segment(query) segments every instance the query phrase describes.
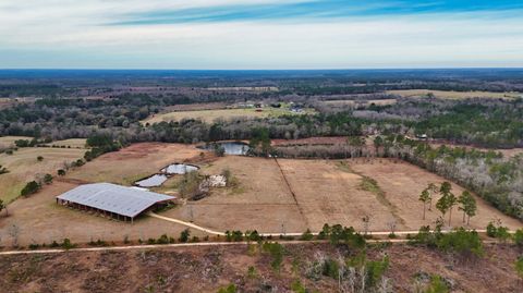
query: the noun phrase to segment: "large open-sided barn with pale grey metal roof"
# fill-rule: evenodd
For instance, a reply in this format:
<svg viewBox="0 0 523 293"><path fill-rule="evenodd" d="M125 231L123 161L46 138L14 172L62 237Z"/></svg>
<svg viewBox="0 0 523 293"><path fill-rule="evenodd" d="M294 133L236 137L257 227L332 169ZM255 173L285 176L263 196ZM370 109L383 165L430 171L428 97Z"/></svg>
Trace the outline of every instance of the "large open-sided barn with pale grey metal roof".
<svg viewBox="0 0 523 293"><path fill-rule="evenodd" d="M57 196L57 204L132 222L142 212L174 199L173 196L117 184L93 183Z"/></svg>

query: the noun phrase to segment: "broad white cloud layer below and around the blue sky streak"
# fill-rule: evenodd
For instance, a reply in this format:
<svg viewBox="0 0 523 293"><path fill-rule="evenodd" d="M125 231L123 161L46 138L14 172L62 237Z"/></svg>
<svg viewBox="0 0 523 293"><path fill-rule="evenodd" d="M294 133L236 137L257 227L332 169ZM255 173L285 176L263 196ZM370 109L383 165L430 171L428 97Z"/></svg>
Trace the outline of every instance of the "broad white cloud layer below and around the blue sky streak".
<svg viewBox="0 0 523 293"><path fill-rule="evenodd" d="M217 1L4 0L0 53L7 53L0 56L0 68L523 66L523 21L502 12L299 23L101 25L121 13L209 3Z"/></svg>

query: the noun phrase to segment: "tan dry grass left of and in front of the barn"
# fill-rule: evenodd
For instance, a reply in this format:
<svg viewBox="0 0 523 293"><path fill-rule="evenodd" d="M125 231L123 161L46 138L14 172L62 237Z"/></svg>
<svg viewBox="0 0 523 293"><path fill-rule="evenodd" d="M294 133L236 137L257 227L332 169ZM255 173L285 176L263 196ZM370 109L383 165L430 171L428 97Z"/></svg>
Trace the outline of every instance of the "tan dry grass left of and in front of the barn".
<svg viewBox="0 0 523 293"><path fill-rule="evenodd" d="M74 243L97 241L122 242L125 235L132 240L157 239L163 233L178 236L184 229L150 217L135 220L134 224L96 217L56 204L56 196L76 187L76 184L54 182L32 197L20 198L9 205L8 218L0 219L0 245L11 246L13 239L8 236L9 229L20 228L21 245L32 243L61 242L69 237Z"/></svg>

